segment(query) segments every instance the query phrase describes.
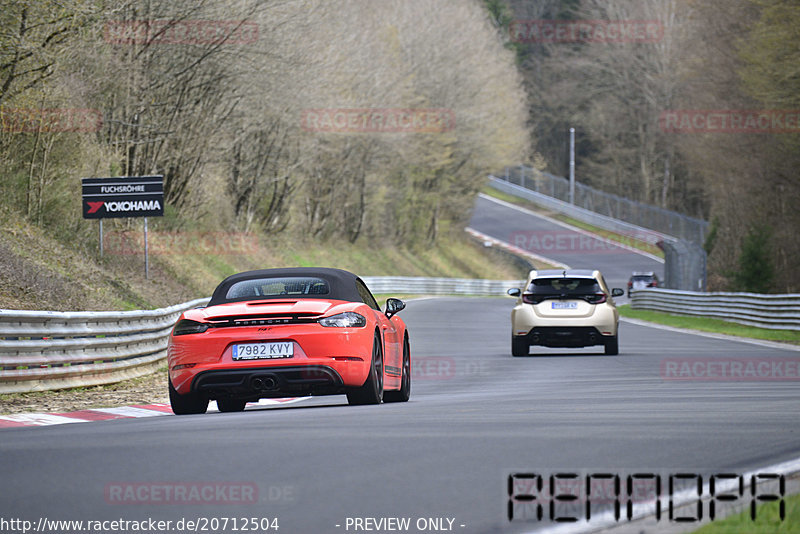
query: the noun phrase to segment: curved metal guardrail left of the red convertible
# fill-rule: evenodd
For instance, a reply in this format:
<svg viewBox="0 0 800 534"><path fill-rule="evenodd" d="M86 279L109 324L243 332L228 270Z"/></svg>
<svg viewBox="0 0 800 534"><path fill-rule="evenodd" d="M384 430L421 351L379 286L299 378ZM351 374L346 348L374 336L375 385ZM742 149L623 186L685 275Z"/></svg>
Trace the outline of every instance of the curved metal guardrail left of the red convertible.
<svg viewBox="0 0 800 534"><path fill-rule="evenodd" d="M181 312L0 310L0 393L94 386L143 376L164 364Z"/></svg>

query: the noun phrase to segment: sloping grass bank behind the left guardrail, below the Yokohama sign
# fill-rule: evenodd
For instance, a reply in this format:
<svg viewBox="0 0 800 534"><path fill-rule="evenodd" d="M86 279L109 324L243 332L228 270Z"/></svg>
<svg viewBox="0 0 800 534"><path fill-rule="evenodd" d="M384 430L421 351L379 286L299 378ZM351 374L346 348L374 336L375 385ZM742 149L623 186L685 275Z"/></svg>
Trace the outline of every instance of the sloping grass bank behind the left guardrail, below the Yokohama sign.
<svg viewBox="0 0 800 534"><path fill-rule="evenodd" d="M237 247L227 242L242 237L235 234L159 232L154 228L150 235L150 278L145 279L144 256L138 247L108 246L100 258L92 250L95 244L60 242L24 221L9 216L4 219L2 213L0 222L7 223L4 227L8 228L0 235L0 308L4 309L158 308L208 296L233 273L274 267L339 267L360 276L498 280L515 280L527 274L508 254L456 231L441 236L434 244L416 247L366 239L352 244L257 235L244 236L246 246ZM117 234L109 230L107 235Z"/></svg>

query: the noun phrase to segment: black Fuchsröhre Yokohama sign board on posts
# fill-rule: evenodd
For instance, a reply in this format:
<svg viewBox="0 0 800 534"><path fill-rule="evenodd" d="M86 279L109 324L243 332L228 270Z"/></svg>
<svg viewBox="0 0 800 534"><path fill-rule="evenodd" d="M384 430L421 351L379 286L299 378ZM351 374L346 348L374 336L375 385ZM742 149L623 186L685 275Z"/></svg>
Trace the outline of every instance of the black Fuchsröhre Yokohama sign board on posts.
<svg viewBox="0 0 800 534"><path fill-rule="evenodd" d="M162 217L163 176L84 178L83 218Z"/></svg>

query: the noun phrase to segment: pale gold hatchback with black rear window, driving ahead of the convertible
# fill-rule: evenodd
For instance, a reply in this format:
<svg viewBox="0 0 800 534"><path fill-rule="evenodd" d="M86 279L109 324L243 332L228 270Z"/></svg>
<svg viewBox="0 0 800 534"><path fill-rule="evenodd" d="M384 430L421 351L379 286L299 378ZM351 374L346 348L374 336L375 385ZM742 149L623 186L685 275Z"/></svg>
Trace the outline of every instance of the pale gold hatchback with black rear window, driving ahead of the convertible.
<svg viewBox="0 0 800 534"><path fill-rule="evenodd" d="M512 288L517 298L511 311L511 353L527 356L531 345L589 347L603 345L619 354L619 312L600 271L531 271L525 288Z"/></svg>

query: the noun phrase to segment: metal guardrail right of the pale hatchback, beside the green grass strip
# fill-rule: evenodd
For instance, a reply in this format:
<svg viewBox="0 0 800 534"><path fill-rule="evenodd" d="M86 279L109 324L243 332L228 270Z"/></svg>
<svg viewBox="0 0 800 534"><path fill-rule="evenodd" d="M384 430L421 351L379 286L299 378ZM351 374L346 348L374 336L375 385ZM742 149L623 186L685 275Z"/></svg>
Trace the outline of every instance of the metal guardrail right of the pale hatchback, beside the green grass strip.
<svg viewBox="0 0 800 534"><path fill-rule="evenodd" d="M800 330L800 294L640 289L631 293L631 307L636 310L711 317L774 330Z"/></svg>

